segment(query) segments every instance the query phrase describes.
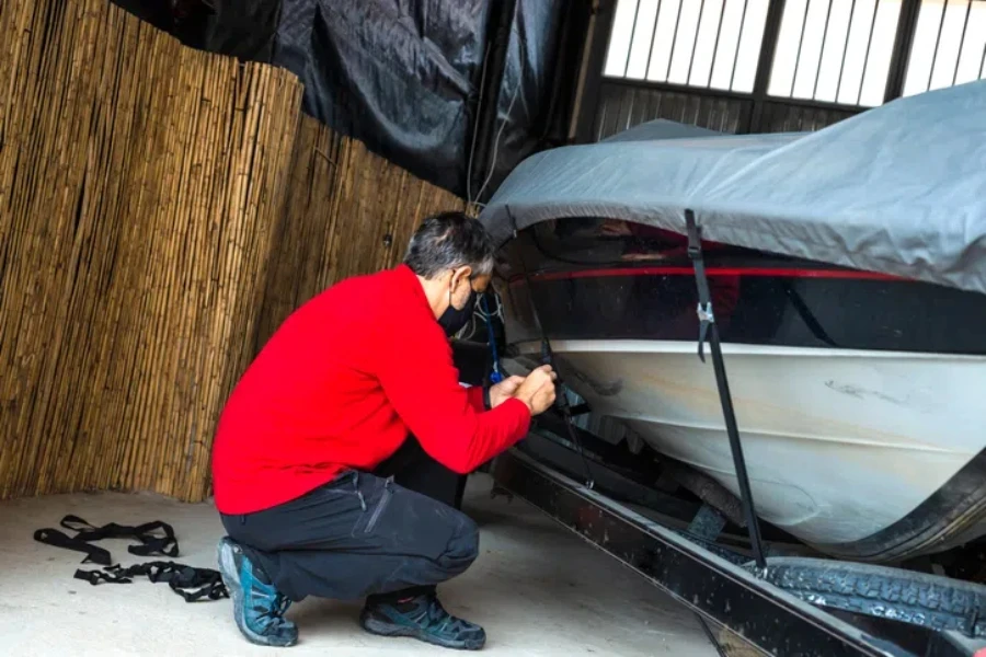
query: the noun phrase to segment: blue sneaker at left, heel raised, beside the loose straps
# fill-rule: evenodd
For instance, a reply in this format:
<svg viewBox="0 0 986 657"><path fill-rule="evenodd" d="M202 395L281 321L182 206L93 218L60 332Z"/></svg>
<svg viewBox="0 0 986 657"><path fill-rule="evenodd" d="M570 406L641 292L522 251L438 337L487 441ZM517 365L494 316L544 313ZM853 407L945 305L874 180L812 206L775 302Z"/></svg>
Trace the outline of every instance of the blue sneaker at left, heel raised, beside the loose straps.
<svg viewBox="0 0 986 657"><path fill-rule="evenodd" d="M291 601L228 537L219 541L218 557L219 573L233 601L237 627L246 641L261 646L295 645L298 627L284 618Z"/></svg>

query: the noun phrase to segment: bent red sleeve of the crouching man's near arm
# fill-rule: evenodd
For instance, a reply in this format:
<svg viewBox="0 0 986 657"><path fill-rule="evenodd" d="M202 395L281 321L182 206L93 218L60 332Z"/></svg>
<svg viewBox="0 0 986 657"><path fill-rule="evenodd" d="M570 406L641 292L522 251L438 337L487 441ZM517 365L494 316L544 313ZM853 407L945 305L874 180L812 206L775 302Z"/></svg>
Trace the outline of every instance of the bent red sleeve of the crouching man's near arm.
<svg viewBox="0 0 986 657"><path fill-rule="evenodd" d="M377 376L387 399L436 461L468 473L524 438L530 411L507 400L493 411L478 412L479 395L459 384L452 351L437 322L408 322L402 334L385 331L378 339Z"/></svg>

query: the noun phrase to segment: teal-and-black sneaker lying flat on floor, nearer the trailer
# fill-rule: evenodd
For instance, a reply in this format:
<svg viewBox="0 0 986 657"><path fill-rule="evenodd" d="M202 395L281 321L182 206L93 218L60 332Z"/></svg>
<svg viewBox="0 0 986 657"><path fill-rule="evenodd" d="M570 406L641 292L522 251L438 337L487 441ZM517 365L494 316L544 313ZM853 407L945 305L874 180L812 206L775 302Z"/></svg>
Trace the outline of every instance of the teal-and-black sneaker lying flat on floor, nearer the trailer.
<svg viewBox="0 0 986 657"><path fill-rule="evenodd" d="M406 602L368 602L359 622L370 634L411 636L445 648L479 650L486 643L482 627L445 611L435 593Z"/></svg>

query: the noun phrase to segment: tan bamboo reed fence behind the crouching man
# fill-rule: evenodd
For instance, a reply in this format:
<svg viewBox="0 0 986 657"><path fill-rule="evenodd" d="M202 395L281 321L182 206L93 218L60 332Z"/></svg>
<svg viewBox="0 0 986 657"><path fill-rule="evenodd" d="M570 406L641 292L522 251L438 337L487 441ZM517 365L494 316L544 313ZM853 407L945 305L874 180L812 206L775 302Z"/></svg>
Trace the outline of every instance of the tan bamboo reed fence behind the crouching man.
<svg viewBox="0 0 986 657"><path fill-rule="evenodd" d="M276 326L462 207L300 92L106 0L0 0L0 499L206 498L222 403Z"/></svg>

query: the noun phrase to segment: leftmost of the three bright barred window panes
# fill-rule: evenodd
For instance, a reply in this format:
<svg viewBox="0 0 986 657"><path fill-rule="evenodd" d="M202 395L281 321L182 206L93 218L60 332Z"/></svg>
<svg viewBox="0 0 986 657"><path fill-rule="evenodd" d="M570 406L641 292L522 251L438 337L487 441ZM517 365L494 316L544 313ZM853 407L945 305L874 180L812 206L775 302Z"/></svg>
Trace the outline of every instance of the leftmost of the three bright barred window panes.
<svg viewBox="0 0 986 657"><path fill-rule="evenodd" d="M604 74L749 93L769 0L618 0Z"/></svg>

